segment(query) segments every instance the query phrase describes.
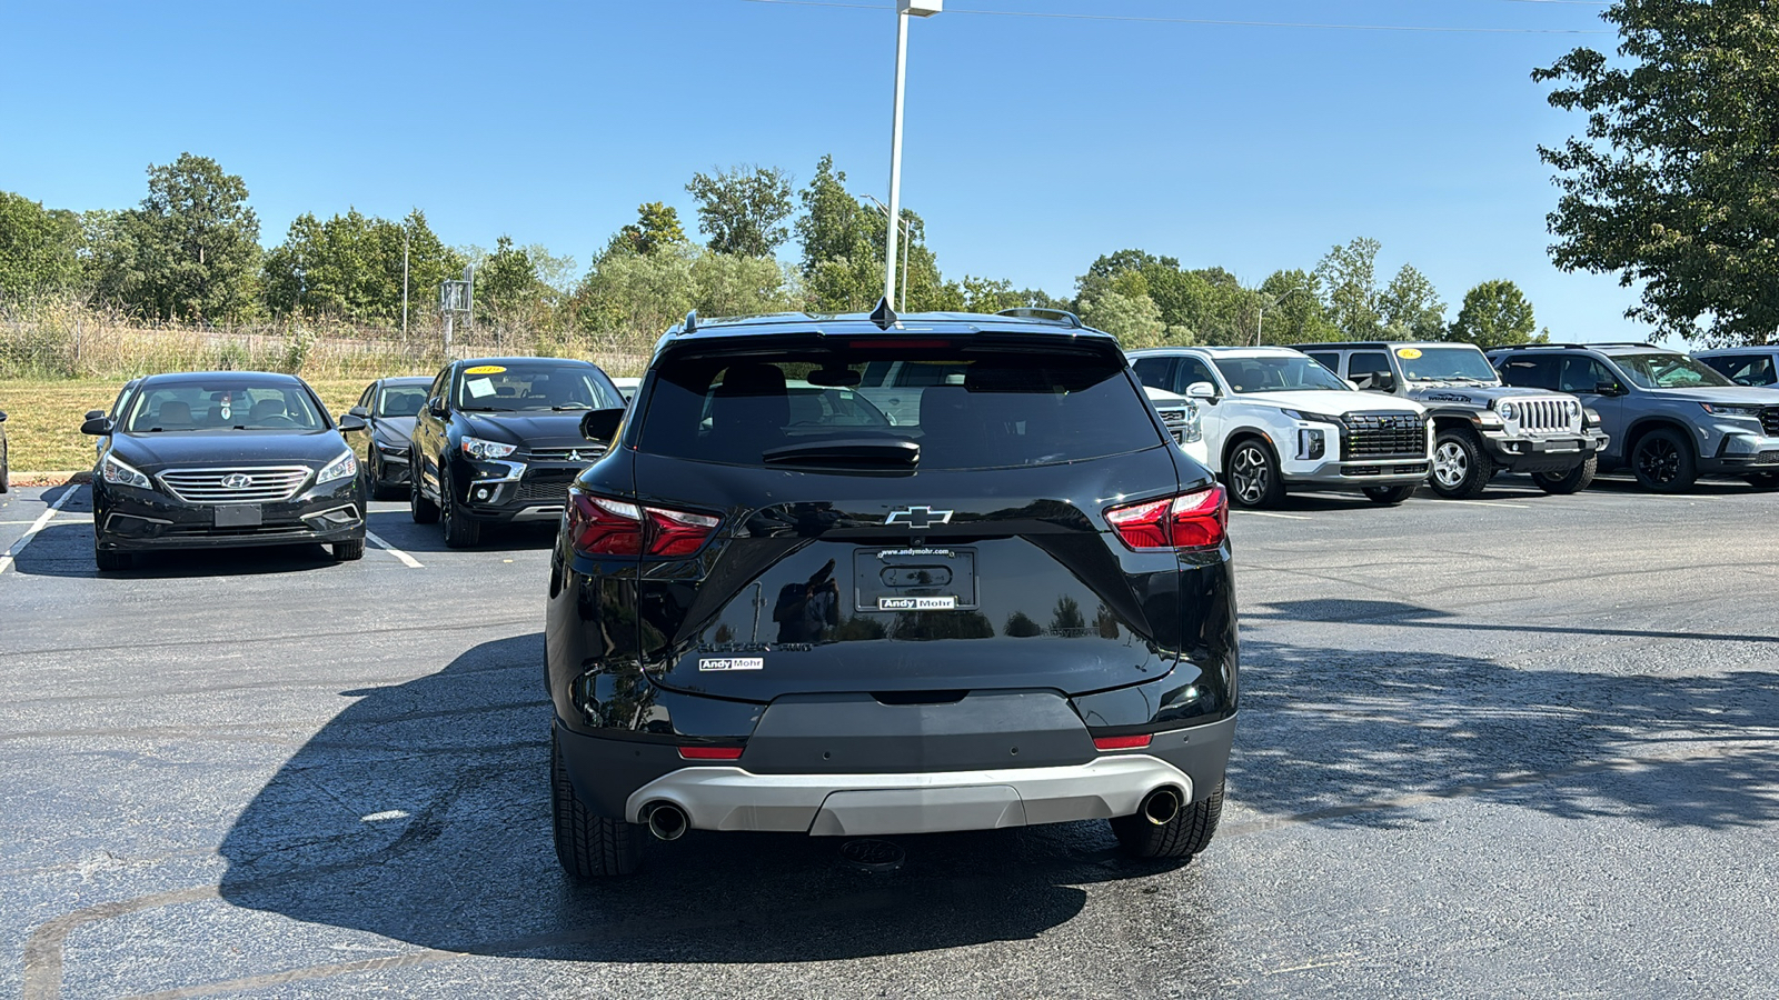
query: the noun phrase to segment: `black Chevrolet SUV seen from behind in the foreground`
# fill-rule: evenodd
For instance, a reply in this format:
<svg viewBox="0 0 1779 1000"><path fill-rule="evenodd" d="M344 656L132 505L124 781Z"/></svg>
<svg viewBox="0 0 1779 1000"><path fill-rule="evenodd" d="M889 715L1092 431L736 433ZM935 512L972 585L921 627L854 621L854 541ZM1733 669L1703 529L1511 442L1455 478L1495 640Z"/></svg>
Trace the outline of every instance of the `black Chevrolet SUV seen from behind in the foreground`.
<svg viewBox="0 0 1779 1000"><path fill-rule="evenodd" d="M856 386L945 372L895 422ZM621 422L621 423L619 423ZM575 877L644 831L1110 820L1190 858L1236 715L1228 502L1066 313L688 322L569 491L546 683Z"/></svg>

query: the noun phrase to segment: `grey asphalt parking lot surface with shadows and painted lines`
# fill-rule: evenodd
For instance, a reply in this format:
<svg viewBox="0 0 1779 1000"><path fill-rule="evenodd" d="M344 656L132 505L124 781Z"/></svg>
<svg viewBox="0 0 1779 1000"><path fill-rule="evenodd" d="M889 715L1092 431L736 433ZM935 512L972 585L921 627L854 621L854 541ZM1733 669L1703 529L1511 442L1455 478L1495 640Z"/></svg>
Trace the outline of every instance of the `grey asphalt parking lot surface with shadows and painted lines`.
<svg viewBox="0 0 1779 1000"><path fill-rule="evenodd" d="M548 530L454 552L377 504L363 562L98 578L87 511L0 496L5 993L1779 995L1779 496L1742 484L1238 512L1190 865L692 833L596 888L550 847Z"/></svg>

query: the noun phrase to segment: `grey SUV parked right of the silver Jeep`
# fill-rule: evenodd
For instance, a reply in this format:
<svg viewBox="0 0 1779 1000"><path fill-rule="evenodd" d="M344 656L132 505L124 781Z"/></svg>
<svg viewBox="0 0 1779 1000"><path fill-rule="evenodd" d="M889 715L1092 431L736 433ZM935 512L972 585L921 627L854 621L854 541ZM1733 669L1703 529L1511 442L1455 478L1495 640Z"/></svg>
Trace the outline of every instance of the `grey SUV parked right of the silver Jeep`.
<svg viewBox="0 0 1779 1000"><path fill-rule="evenodd" d="M1612 443L1603 470L1678 493L1699 475L1779 488L1779 391L1745 388L1651 343L1528 343L1489 352L1510 386L1574 393Z"/></svg>

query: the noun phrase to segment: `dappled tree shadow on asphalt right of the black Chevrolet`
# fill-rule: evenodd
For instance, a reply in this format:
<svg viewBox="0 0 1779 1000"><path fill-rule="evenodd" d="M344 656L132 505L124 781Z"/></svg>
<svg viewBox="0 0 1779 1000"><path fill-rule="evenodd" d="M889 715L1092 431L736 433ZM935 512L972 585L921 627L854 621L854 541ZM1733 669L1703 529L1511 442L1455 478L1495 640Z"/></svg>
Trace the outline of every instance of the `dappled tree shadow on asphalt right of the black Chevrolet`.
<svg viewBox="0 0 1779 1000"><path fill-rule="evenodd" d="M1247 617L1598 635L1628 639L1626 649L1779 644L1770 635L1475 625L1398 601L1281 601ZM1229 785L1274 817L1409 826L1425 797L1468 797L1663 827L1779 820L1775 673L1512 669L1453 653L1256 641L1244 646L1244 667Z"/></svg>

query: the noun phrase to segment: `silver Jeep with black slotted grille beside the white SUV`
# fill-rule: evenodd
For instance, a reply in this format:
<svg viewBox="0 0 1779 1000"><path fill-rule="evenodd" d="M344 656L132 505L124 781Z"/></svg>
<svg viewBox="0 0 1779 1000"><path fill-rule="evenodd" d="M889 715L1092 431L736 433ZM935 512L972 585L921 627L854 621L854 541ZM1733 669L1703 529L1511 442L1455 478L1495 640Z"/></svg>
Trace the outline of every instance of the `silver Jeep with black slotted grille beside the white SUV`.
<svg viewBox="0 0 1779 1000"><path fill-rule="evenodd" d="M1377 340L1297 349L1364 391L1427 407L1434 420L1429 486L1441 496L1480 496L1496 472L1532 473L1546 493L1576 493L1594 482L1606 447L1599 415L1567 393L1503 386L1473 343Z"/></svg>

